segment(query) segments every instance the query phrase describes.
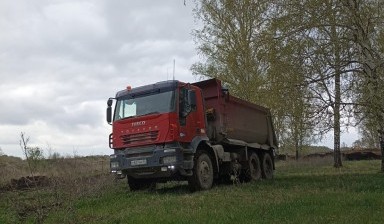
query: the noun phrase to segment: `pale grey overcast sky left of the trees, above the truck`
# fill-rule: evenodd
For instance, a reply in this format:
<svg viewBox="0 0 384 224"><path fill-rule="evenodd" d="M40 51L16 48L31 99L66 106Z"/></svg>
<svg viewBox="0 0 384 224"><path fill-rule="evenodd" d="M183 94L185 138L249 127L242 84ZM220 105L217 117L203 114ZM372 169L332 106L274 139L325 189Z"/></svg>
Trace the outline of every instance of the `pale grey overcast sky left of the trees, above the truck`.
<svg viewBox="0 0 384 224"><path fill-rule="evenodd" d="M171 79L173 60L176 79L198 81L186 3L1 0L2 151L22 156L25 132L45 153L111 154L105 109L116 91Z"/></svg>

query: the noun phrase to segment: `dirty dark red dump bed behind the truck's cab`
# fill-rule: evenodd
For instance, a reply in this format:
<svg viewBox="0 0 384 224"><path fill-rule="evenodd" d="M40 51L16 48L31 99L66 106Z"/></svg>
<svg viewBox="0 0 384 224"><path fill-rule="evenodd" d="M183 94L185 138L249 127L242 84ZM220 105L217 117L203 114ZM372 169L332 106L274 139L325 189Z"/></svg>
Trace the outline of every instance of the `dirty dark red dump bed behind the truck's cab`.
<svg viewBox="0 0 384 224"><path fill-rule="evenodd" d="M221 81L194 83L203 91L207 111L207 134L213 142L241 140L263 148L277 148L269 109L231 96Z"/></svg>

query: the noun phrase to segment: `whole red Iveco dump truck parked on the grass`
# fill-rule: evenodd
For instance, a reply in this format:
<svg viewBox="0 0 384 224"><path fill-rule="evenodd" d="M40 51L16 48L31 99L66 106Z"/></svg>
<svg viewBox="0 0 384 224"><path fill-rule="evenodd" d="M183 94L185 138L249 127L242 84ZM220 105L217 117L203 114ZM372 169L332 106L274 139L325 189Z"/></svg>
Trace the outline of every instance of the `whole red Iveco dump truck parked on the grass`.
<svg viewBox="0 0 384 224"><path fill-rule="evenodd" d="M169 180L188 180L196 191L216 180L273 178L270 111L231 96L220 80L128 86L107 105L111 172L127 177L131 190Z"/></svg>

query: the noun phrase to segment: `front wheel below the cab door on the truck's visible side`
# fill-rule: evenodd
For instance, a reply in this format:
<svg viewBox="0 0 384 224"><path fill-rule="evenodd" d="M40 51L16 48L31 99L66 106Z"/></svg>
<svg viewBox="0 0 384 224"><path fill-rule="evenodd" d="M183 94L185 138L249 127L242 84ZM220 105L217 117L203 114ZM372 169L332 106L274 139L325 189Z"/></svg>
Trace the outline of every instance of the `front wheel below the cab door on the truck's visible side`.
<svg viewBox="0 0 384 224"><path fill-rule="evenodd" d="M213 166L211 157L206 151L197 151L195 154L193 174L188 179L191 191L208 190L213 184Z"/></svg>

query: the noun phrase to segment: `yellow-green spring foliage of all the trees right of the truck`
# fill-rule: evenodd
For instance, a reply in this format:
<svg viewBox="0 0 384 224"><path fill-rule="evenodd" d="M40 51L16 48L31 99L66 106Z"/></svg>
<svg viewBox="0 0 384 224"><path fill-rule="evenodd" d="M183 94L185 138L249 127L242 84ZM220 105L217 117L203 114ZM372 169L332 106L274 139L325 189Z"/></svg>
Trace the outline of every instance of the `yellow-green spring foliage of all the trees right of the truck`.
<svg viewBox="0 0 384 224"><path fill-rule="evenodd" d="M341 129L353 115L370 144L372 130L384 130L382 8L382 0L197 1L205 60L192 71L271 108L282 145L299 150L333 130L341 166Z"/></svg>

